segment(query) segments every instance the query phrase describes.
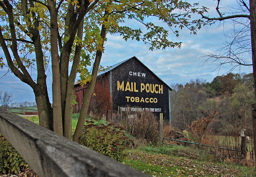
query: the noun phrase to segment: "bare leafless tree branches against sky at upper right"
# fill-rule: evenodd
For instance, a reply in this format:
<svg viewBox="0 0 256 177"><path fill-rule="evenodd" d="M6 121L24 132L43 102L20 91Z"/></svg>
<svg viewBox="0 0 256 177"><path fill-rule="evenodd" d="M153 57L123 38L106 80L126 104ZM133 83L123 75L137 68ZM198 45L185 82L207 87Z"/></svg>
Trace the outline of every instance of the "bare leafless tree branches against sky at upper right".
<svg viewBox="0 0 256 177"><path fill-rule="evenodd" d="M213 62L220 61L217 68L224 64L230 64L234 70L236 67L252 66L247 63L247 59L252 55L251 38L250 38L250 9L247 0L237 1L237 7L222 8L221 0L217 0L216 11L219 17L210 18L203 14L202 18L206 19L206 24L215 23L216 21L228 22L233 25L231 33L225 33L228 41L223 42L224 46L209 52L207 60L212 59ZM228 15L226 15L228 14ZM221 24L221 23L220 23Z"/></svg>

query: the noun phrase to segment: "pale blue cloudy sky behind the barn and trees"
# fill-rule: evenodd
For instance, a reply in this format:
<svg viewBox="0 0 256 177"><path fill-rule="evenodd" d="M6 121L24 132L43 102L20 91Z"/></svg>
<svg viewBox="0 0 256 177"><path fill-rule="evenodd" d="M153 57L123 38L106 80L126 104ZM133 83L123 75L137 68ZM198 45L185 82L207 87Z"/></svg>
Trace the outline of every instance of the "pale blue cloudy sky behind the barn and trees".
<svg viewBox="0 0 256 177"><path fill-rule="evenodd" d="M209 16L216 17L215 3L216 1L199 1L201 5L210 8ZM207 3L207 4L204 4ZM231 6L236 4L234 0L226 0L223 2L223 6ZM159 23L157 20L152 20L155 23ZM128 23L132 23L129 22ZM140 28L141 24L135 28ZM143 27L142 27L143 28ZM232 29L231 24L219 25L215 24L202 28L197 32L197 35L190 35L188 30L182 30L180 36L177 38L170 33L170 40L181 41L182 47L179 48L166 48L165 50L153 50L150 51L149 45L143 42L137 41L124 41L119 35L107 35L108 41L105 44L105 51L102 55L101 65L111 66L136 56L142 63L144 63L152 72L154 72L160 79L162 79L167 85L171 86L176 83L186 84L191 79L204 79L207 82L211 82L214 77L226 74L232 66L223 65L219 69L214 70L219 62L211 63L211 61L205 62L208 52L219 49L223 46L223 42L230 40L225 37L224 34L229 34ZM4 53L0 48L0 57L4 58ZM252 63L251 57L246 58L247 63ZM51 67L47 70L47 83L48 94L50 100L52 100L51 91ZM35 96L32 89L22 83L13 73L7 73L6 67L0 69L0 90L7 91L13 95L13 102L35 101ZM233 70L234 73L250 73L252 67L242 66ZM7 74L6 74L7 73ZM31 70L33 78L36 78L35 71ZM77 77L78 78L78 77Z"/></svg>

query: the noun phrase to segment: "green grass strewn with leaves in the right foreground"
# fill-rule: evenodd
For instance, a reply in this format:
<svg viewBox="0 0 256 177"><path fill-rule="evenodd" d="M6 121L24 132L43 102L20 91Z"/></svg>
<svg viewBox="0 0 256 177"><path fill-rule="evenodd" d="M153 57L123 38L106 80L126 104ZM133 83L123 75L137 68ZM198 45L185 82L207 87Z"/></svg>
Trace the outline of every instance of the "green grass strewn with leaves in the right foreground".
<svg viewBox="0 0 256 177"><path fill-rule="evenodd" d="M123 163L152 176L256 176L254 167L212 162L207 157L187 147L145 146L128 150Z"/></svg>

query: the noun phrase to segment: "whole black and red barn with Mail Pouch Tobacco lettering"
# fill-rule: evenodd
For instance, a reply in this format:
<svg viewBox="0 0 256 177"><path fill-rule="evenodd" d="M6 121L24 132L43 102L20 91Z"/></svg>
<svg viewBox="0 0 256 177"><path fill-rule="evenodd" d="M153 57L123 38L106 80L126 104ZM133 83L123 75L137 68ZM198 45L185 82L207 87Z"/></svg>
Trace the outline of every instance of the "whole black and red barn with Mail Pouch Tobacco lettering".
<svg viewBox="0 0 256 177"><path fill-rule="evenodd" d="M74 85L77 104L74 113L81 110L87 85ZM170 91L172 89L137 57L131 57L106 71L99 72L88 112L108 114L117 111L151 111L156 116L163 113L171 120Z"/></svg>

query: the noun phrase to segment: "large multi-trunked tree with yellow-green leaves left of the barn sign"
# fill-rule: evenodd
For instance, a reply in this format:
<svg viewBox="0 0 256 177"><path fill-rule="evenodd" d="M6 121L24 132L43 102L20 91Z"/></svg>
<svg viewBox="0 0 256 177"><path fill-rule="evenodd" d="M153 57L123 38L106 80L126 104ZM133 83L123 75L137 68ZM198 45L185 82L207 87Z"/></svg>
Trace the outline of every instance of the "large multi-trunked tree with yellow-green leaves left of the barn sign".
<svg viewBox="0 0 256 177"><path fill-rule="evenodd" d="M8 65L15 76L32 87L39 124L67 138L71 135L73 88L79 72L82 85L90 84L83 97L73 138L78 142L106 34L120 34L125 41L143 41L150 50L180 48L181 42L168 40L167 29L148 21L164 22L176 36L178 29L183 28L195 34L201 24L193 26L188 20L190 14L196 12L196 5L178 0L2 0L0 44L7 64L1 58L0 66ZM126 25L127 20L139 22L144 28L133 29ZM53 108L46 85L49 64L52 66ZM88 65L93 65L91 73L86 68ZM30 76L29 68L37 70L37 78Z"/></svg>

